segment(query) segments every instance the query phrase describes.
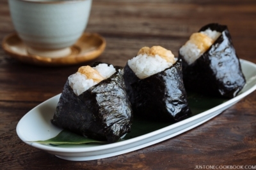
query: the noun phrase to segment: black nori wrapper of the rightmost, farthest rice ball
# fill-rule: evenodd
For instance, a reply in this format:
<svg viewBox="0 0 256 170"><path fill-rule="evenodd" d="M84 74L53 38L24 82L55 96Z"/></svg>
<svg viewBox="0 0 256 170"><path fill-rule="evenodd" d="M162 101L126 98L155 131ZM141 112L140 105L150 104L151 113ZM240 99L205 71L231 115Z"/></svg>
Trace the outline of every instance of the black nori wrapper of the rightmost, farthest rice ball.
<svg viewBox="0 0 256 170"><path fill-rule="evenodd" d="M188 65L182 60L185 88L207 96L235 97L243 89L246 80L230 33L226 25L208 24L200 31L206 29L221 32L221 35L192 64ZM184 59L180 53L179 57Z"/></svg>

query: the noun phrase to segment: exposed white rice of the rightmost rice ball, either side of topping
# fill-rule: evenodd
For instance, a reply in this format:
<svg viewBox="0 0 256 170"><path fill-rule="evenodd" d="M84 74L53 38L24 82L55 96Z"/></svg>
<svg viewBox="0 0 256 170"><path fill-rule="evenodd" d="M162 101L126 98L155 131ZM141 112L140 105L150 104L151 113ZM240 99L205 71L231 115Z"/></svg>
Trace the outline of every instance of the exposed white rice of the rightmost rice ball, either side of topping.
<svg viewBox="0 0 256 170"><path fill-rule="evenodd" d="M205 31L201 31L201 33L209 36L213 41L216 41L220 36L221 32L212 31L211 29L206 29ZM180 54L184 57L188 64L192 64L198 59L204 52L197 48L194 43L186 43L180 48Z"/></svg>

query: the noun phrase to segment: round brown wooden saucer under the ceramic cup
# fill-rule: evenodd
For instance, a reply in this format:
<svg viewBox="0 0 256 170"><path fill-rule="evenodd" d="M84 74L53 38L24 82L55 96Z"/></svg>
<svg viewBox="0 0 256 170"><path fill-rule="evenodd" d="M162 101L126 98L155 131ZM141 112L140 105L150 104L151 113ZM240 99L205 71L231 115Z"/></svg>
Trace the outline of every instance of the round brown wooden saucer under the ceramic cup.
<svg viewBox="0 0 256 170"><path fill-rule="evenodd" d="M70 55L55 59L28 53L27 46L22 42L17 33L6 36L3 39L2 46L5 52L20 62L39 66L68 66L99 57L106 47L106 40L97 33L84 32L76 44L70 47L72 50Z"/></svg>

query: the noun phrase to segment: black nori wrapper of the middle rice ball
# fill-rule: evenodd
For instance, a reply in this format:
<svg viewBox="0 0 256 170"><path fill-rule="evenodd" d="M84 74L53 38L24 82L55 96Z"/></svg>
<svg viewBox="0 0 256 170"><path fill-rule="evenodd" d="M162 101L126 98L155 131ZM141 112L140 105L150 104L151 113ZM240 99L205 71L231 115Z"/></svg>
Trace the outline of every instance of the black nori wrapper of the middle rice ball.
<svg viewBox="0 0 256 170"><path fill-rule="evenodd" d="M182 81L181 60L157 74L140 79L128 64L125 86L135 115L145 120L177 122L190 113Z"/></svg>

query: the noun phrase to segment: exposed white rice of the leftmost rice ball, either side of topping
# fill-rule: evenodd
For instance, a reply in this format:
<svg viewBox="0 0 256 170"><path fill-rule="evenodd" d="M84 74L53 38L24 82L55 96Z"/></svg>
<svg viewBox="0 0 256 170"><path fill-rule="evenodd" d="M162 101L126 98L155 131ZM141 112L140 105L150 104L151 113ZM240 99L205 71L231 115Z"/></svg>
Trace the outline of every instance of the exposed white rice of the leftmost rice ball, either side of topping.
<svg viewBox="0 0 256 170"><path fill-rule="evenodd" d="M108 66L108 64L99 64L93 68L96 69L100 76L102 76L104 79L109 78L116 72L116 69L113 67L113 65ZM88 79L85 74L81 74L79 72L68 76L68 82L77 96L88 90L93 85L97 84L97 82L93 81L92 79Z"/></svg>

